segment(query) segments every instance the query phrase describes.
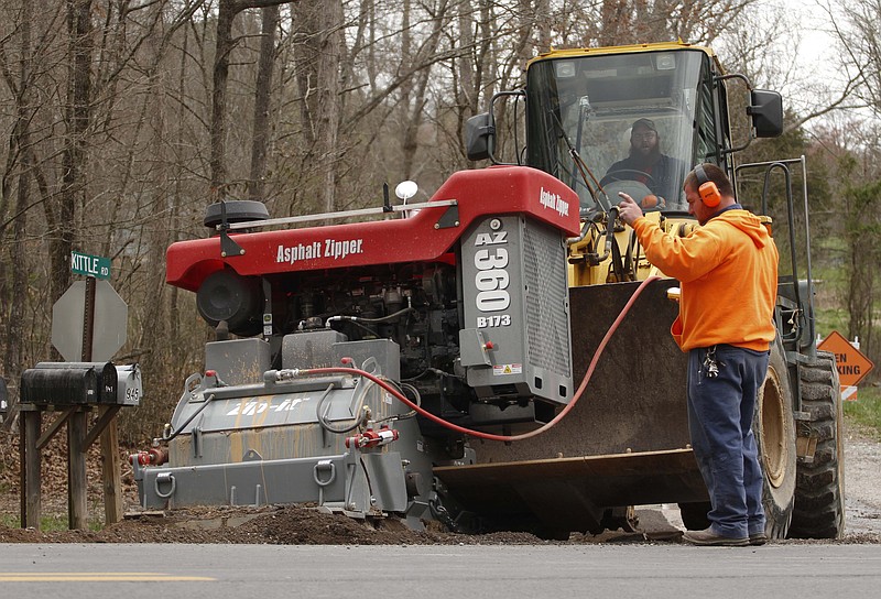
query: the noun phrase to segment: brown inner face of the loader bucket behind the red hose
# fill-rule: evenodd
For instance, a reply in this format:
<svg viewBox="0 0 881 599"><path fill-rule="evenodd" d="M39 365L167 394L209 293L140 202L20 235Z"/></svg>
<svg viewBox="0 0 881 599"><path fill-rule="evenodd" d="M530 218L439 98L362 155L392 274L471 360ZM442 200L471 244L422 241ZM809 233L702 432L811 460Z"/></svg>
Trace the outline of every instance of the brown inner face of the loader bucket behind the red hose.
<svg viewBox="0 0 881 599"><path fill-rule="evenodd" d="M657 451L685 447L686 355L670 335L672 280L650 283L609 339L578 403L547 433L510 445L471 440L480 462ZM569 290L574 384L639 283Z"/></svg>

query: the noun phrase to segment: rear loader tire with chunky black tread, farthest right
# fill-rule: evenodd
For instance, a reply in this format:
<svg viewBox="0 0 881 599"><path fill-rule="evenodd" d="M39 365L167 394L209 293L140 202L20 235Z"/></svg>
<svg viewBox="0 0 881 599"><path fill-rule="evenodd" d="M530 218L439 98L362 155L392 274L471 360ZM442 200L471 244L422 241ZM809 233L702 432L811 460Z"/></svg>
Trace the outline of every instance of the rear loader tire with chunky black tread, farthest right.
<svg viewBox="0 0 881 599"><path fill-rule="evenodd" d="M841 538L845 534L844 409L835 356L817 351L817 359L800 372L802 435L816 438L813 460L800 460L795 483L795 510L790 536Z"/></svg>

